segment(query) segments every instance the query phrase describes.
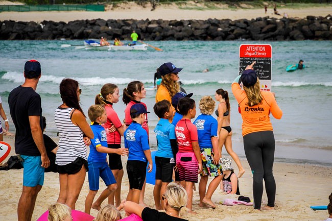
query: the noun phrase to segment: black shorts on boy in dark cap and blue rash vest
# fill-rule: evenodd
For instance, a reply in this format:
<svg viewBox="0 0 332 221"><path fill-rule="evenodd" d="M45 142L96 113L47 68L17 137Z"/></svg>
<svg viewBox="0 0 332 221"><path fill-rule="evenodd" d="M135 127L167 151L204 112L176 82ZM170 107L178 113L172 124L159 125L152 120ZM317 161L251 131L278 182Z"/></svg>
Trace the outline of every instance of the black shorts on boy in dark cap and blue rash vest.
<svg viewBox="0 0 332 221"><path fill-rule="evenodd" d="M148 162L139 160L127 161L127 175L130 189L141 190L144 185Z"/></svg>

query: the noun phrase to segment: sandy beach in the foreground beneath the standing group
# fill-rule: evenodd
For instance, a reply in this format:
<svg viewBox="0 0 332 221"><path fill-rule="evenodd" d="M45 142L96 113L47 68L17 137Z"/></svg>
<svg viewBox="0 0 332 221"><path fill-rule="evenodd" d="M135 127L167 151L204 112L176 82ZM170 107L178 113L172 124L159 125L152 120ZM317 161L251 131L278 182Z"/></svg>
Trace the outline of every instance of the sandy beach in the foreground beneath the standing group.
<svg viewBox="0 0 332 221"><path fill-rule="evenodd" d="M14 137L5 136L5 141L14 146ZM12 150L10 155L15 155ZM4 161L6 162L7 159ZM252 200L252 176L248 162L242 159L246 173L239 180L240 192ZM126 158L123 158L125 166ZM233 163L234 165L234 163ZM126 168L126 167L124 167ZM2 207L0 208L1 220L17 219L16 209L22 188L22 169L1 170L0 186ZM235 169L235 173L237 170ZM331 193L332 169L317 165L275 163L274 177L277 184L276 207L274 211L256 211L252 206L225 206L220 204L224 199L237 200L238 195L224 195L216 190L212 200L217 204L217 209L200 208L198 191L194 191L193 208L198 215L188 214L186 218L194 220L324 220L328 217L327 210L314 211L312 205L327 205L328 195ZM209 179L210 181L211 179ZM103 181L100 182L104 188ZM198 184L196 184L198 188ZM86 179L76 203L77 210L84 210L85 197L88 193L88 179ZM122 184L122 198L125 199L128 191L128 179L125 174ZM32 220L36 220L50 204L55 203L59 193L59 176L55 173L46 173L44 186L41 189ZM98 193L100 194L100 192ZM153 185L147 184L145 203L154 208ZM266 194L263 194L263 205L267 203ZM104 202L106 204L106 202ZM91 215L96 216L97 211L91 210ZM124 215L124 212L122 211Z"/></svg>

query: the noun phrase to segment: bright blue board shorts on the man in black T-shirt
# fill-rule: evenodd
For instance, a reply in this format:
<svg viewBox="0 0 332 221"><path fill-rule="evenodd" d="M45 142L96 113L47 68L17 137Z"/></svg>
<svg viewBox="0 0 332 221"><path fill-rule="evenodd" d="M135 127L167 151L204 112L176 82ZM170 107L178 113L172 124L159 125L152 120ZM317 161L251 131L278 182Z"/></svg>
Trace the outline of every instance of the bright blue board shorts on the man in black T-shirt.
<svg viewBox="0 0 332 221"><path fill-rule="evenodd" d="M19 155L23 165L23 186L35 187L44 184L45 168L41 167L40 156Z"/></svg>

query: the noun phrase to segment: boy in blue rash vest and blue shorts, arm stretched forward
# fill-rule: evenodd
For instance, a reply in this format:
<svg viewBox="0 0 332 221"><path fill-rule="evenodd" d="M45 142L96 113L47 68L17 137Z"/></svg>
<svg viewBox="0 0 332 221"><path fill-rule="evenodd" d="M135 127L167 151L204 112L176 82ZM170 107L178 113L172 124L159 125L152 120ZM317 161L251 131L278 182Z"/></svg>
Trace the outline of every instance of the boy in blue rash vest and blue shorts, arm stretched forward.
<svg viewBox="0 0 332 221"><path fill-rule="evenodd" d="M128 150L125 148L110 149L107 148L106 131L101 126L107 120L107 114L103 105L92 105L88 109L88 116L91 120L91 129L93 132L93 139L91 139L90 153L88 157L88 178L89 178L89 193L85 199L84 212L90 214L92 209L100 210L102 202L117 188L116 180L112 174L111 169L107 164L107 154L118 154L126 156ZM100 194L96 202L93 202L99 190L99 177L101 177L106 184L106 189Z"/></svg>

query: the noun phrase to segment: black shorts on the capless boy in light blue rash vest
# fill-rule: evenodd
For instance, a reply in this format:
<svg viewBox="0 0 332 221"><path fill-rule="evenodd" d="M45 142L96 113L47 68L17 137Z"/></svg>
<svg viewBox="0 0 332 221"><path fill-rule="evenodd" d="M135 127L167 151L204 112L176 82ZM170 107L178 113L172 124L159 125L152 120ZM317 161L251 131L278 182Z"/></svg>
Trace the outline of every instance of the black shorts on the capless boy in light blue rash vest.
<svg viewBox="0 0 332 221"><path fill-rule="evenodd" d="M171 159L173 162L171 163ZM156 180L164 183L172 182L173 168L175 166L174 158L155 157L156 162Z"/></svg>

